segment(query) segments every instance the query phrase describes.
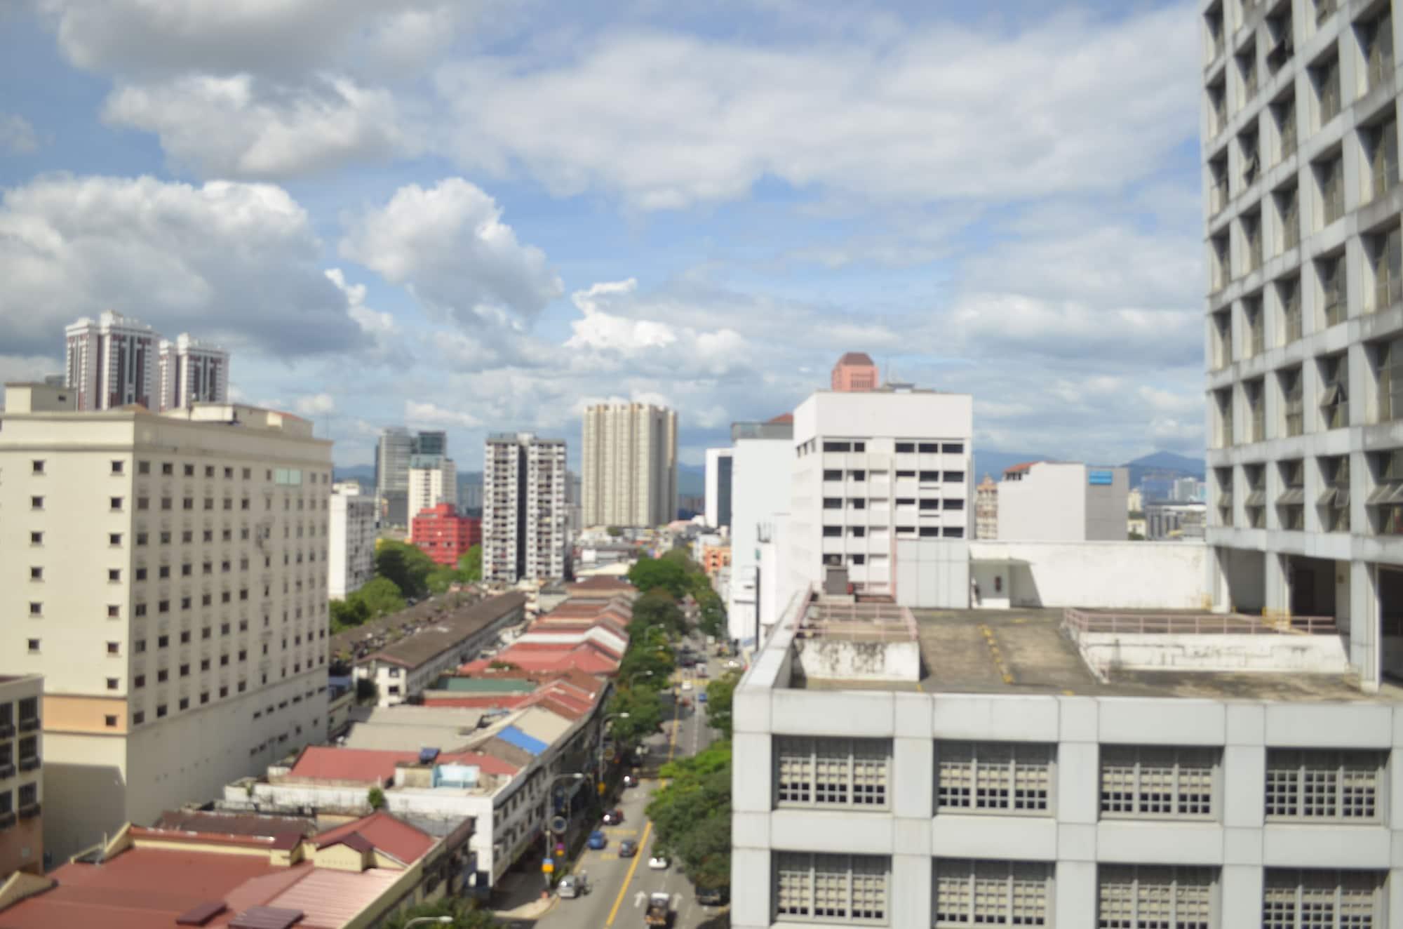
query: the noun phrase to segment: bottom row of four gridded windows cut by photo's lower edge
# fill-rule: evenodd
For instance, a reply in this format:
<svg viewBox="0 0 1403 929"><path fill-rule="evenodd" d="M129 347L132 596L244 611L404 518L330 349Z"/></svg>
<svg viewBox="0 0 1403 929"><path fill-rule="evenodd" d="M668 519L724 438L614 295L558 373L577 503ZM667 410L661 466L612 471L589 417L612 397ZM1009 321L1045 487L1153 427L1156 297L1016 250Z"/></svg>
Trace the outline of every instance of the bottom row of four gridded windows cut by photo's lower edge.
<svg viewBox="0 0 1403 929"><path fill-rule="evenodd" d="M780 921L884 925L891 859L880 855L772 853L772 908ZM1267 869L1261 929L1371 929L1383 925L1386 873ZM1101 864L1097 929L1216 929L1216 867ZM1051 926L1049 862L936 859L930 925ZM1087 923L1090 925L1090 923Z"/></svg>

